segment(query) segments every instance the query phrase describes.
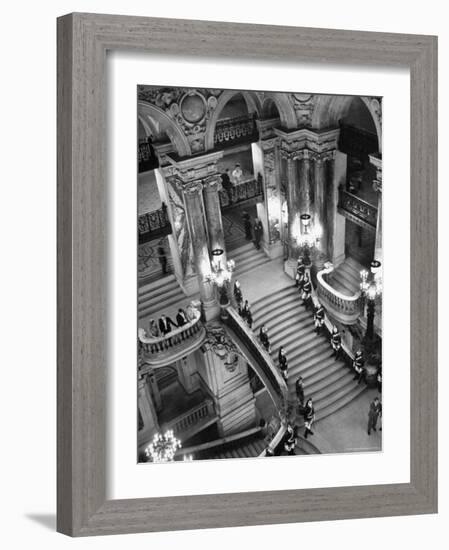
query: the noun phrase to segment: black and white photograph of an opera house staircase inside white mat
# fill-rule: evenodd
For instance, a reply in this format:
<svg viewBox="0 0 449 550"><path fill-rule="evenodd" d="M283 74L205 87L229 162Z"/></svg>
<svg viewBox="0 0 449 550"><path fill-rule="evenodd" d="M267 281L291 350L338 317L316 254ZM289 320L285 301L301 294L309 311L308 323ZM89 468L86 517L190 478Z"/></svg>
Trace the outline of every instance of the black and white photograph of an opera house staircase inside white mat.
<svg viewBox="0 0 449 550"><path fill-rule="evenodd" d="M382 450L382 98L140 85L138 459Z"/></svg>

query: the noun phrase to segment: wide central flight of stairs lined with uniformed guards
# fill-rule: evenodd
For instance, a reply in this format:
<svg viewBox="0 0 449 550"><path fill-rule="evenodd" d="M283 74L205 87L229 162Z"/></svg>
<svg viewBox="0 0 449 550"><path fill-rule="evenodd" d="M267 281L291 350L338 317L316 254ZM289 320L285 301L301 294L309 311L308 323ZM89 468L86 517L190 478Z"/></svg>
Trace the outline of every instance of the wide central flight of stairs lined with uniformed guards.
<svg viewBox="0 0 449 550"><path fill-rule="evenodd" d="M335 361L329 341L314 332L313 316L307 311L293 284L252 304L254 331L262 323L268 330L272 359L278 364L282 345L288 358L289 402L296 404L295 382L304 379L306 399L312 397L316 419L334 413L355 399L364 389L342 361Z"/></svg>

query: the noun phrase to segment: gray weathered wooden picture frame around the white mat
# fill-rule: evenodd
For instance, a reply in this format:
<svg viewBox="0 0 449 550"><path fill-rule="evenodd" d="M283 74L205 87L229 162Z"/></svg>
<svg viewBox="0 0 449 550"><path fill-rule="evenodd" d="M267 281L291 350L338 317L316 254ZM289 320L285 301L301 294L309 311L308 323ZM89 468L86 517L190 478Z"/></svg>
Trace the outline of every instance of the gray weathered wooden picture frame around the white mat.
<svg viewBox="0 0 449 550"><path fill-rule="evenodd" d="M410 483L106 500L106 52L411 71ZM58 506L72 536L437 511L437 38L74 13L58 19Z"/></svg>

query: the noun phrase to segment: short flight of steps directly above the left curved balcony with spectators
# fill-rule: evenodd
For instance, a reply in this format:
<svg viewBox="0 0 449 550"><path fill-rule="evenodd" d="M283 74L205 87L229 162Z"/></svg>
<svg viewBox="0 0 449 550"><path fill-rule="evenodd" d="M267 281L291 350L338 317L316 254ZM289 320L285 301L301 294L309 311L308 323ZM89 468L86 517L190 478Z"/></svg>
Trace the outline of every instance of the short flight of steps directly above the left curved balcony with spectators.
<svg viewBox="0 0 449 550"><path fill-rule="evenodd" d="M167 308L185 300L185 298L185 294L173 275L167 275L163 279L148 283L139 288L139 319L151 317L156 313L164 313Z"/></svg>

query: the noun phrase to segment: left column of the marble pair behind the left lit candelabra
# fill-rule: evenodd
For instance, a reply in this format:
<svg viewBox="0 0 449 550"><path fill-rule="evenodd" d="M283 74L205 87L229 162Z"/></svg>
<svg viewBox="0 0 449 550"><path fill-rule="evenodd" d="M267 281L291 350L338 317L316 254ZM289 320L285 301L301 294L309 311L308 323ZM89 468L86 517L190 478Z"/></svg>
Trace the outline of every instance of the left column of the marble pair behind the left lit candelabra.
<svg viewBox="0 0 449 550"><path fill-rule="evenodd" d="M210 274L210 258L207 246L207 233L203 214L202 189L200 181L183 185L187 222L193 248L195 271L198 277L200 299L203 303L206 320L218 317L220 308L215 300L214 288L204 278Z"/></svg>

